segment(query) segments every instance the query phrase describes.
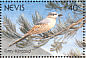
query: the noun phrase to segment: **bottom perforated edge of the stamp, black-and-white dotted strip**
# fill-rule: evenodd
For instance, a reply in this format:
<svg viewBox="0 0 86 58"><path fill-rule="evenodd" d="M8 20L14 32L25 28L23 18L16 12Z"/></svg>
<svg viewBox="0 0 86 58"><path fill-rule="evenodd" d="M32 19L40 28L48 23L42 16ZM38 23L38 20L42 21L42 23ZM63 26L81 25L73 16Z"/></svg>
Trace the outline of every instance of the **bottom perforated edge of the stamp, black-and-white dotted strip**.
<svg viewBox="0 0 86 58"><path fill-rule="evenodd" d="M85 58L85 56L1 56L1 58Z"/></svg>

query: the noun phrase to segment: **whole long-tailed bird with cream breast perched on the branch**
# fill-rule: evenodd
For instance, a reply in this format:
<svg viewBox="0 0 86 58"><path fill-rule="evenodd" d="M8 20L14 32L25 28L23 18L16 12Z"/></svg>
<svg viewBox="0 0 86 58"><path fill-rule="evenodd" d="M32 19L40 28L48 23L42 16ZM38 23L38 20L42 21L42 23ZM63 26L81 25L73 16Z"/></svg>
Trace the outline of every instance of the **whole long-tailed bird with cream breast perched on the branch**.
<svg viewBox="0 0 86 58"><path fill-rule="evenodd" d="M10 44L9 47L25 39L30 35L48 32L50 29L52 29L55 26L56 18L58 16L62 16L62 14L57 14L56 12L49 12L48 16L45 19L41 20L36 25L34 25L26 34L24 34L22 38Z"/></svg>

